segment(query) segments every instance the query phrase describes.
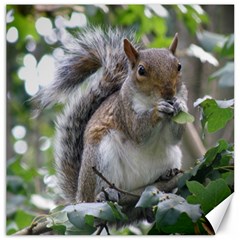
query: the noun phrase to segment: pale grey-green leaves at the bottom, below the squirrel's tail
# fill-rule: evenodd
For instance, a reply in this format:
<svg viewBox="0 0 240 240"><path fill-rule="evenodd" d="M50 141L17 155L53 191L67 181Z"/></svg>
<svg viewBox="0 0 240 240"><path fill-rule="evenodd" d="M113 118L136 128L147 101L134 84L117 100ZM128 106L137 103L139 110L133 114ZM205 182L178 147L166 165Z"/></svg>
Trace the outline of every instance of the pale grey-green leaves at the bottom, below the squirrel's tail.
<svg viewBox="0 0 240 240"><path fill-rule="evenodd" d="M124 222L126 219L116 203L79 203L53 210L48 216L47 226L57 234L90 235L101 223Z"/></svg>

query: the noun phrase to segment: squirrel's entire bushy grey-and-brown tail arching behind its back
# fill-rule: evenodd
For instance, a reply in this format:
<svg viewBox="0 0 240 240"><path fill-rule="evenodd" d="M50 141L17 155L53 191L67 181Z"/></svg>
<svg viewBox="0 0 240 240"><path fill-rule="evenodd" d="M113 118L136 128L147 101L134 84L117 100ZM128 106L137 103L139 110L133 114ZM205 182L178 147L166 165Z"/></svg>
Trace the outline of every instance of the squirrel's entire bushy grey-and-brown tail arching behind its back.
<svg viewBox="0 0 240 240"><path fill-rule="evenodd" d="M87 28L65 47L55 80L34 97L39 110L66 103L57 120L55 160L58 184L69 202L75 201L83 135L92 114L119 90L128 73L123 39L133 37L118 29Z"/></svg>

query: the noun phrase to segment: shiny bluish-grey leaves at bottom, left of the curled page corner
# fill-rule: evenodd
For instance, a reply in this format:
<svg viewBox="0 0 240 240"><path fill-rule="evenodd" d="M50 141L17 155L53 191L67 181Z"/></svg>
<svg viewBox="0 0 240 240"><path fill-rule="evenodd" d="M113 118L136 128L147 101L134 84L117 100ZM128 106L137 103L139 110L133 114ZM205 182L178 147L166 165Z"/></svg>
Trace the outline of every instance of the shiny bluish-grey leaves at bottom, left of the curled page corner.
<svg viewBox="0 0 240 240"><path fill-rule="evenodd" d="M200 205L189 204L176 194L163 193L157 188L147 187L136 207L149 208L153 206L155 210L154 227L161 234L191 234L194 232L193 223L196 223L202 216Z"/></svg>

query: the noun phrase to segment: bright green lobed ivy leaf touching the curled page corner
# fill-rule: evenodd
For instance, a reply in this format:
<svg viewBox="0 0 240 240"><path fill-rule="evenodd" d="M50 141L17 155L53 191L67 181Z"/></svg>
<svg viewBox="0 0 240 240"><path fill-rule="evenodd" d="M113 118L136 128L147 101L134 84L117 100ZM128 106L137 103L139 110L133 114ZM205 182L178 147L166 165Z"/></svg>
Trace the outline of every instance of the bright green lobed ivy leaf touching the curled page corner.
<svg viewBox="0 0 240 240"><path fill-rule="evenodd" d="M187 201L192 204L200 204L205 214L209 213L231 194L223 179L211 181L206 187L197 181L190 181L187 182L187 187L192 193L187 197Z"/></svg>

